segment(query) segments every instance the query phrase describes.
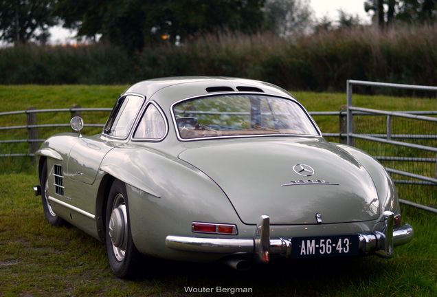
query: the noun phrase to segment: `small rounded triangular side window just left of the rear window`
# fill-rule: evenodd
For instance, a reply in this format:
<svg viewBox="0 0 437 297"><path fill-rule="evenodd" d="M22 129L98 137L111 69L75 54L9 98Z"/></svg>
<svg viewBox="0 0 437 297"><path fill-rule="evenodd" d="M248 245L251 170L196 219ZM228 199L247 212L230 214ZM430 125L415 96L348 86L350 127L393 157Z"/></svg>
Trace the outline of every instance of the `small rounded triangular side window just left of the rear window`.
<svg viewBox="0 0 437 297"><path fill-rule="evenodd" d="M148 104L133 137L148 140L160 140L165 135L166 120L164 120L161 112L159 112L157 107L155 107L155 104Z"/></svg>

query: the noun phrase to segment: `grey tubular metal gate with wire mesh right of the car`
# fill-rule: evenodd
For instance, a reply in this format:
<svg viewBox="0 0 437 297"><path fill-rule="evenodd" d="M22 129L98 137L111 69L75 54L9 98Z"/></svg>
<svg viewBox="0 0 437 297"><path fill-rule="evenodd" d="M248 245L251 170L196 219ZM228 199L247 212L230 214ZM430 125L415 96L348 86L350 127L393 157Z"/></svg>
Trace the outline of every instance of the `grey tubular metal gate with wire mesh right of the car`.
<svg viewBox="0 0 437 297"><path fill-rule="evenodd" d="M392 175L396 184L409 185L408 191L410 192L413 192L413 186L416 186L414 191L425 193L425 195L428 193L431 196L435 195L437 187L437 118L435 115L437 111L383 111L359 107L353 104L352 85L421 91L437 91L437 87L361 80L348 80L346 85L346 143L363 148L378 159ZM368 118L373 120L369 121ZM372 124L366 124L366 120ZM385 130L383 133L378 123L379 126L383 124L382 129ZM396 133L396 130L401 132ZM344 133L341 136L344 136ZM424 187L427 188L424 189ZM402 186L398 188L401 188L399 192L402 196L403 188ZM437 213L437 208L421 203L403 199L401 202ZM436 201L432 202L436 204Z"/></svg>

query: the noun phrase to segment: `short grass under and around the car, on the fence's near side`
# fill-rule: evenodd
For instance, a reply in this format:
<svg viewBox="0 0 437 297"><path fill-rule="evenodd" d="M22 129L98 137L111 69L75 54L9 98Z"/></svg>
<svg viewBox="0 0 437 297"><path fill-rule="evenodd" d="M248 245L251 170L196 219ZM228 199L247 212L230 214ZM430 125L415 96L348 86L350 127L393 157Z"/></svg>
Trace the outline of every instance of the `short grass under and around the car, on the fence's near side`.
<svg viewBox="0 0 437 297"><path fill-rule="evenodd" d="M35 175L0 175L0 296L179 296L184 286L251 287L249 296L436 296L434 214L403 208L411 243L393 259L292 261L237 272L219 263L144 261L133 281L113 276L104 244L74 227L54 228L32 195Z"/></svg>

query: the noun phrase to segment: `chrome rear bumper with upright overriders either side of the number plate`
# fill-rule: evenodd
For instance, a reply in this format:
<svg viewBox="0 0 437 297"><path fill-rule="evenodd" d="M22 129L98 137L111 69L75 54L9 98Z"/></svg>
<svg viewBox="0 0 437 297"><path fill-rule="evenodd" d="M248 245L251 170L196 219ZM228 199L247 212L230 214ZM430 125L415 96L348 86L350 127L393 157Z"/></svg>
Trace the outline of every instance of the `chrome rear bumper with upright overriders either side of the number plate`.
<svg viewBox="0 0 437 297"><path fill-rule="evenodd" d="M256 259L262 263L269 263L271 254L278 254L285 257L291 255L293 246L291 238L270 238L270 219L262 215L256 226L254 238L251 239L218 239L201 238L191 236L166 237L166 245L174 250L187 252L207 252L216 254L254 254ZM372 233L359 233L359 254L377 254L383 258L393 256L393 247L411 241L413 228L409 224L394 228L394 214L390 211L384 212L384 225L382 231Z"/></svg>

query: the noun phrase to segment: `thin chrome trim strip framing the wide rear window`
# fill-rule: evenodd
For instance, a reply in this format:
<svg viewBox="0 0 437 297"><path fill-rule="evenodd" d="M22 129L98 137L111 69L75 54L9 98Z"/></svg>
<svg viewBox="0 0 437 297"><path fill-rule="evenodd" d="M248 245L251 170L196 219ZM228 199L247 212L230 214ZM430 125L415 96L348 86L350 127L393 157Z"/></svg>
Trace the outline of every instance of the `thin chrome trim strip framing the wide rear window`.
<svg viewBox="0 0 437 297"><path fill-rule="evenodd" d="M194 99L198 99L198 98L203 98L203 97L213 97L213 96L221 96L221 95L259 95L259 96L271 96L271 97L276 97L276 98L282 98L282 99L286 99L286 100L291 100L293 102L295 102L296 104L298 104L298 106L302 109L302 111L304 111L305 115L307 118L309 118L311 124L313 124L315 130L317 131L317 133L319 133L319 135L306 135L306 134L260 134L260 135L229 135L229 136L213 136L213 137L198 137L198 138L182 138L181 135L179 135L179 129L177 128L177 122L176 122L176 117L175 117L175 113L173 111L173 107L183 101L186 100L194 100ZM300 104L300 102L298 100L296 100L293 97L285 97L285 96L278 96L278 95L273 95L273 94L268 94L268 93L259 93L259 92L217 92L217 93L212 93L212 94L206 94L206 95L199 95L199 96L193 96L190 98L185 98L185 99L181 99L178 100L174 103L172 103L170 105L170 113L172 115L172 122L173 125L175 127L175 132L176 132L176 136L177 139L181 142L188 142L188 141L194 141L194 140L212 140L212 139L223 139L223 138L242 138L242 137L265 137L265 136L299 136L299 137L323 137L322 136L322 131L320 131L319 126L317 126L317 124L315 123L313 117L309 114L308 111L306 111L305 107Z"/></svg>

